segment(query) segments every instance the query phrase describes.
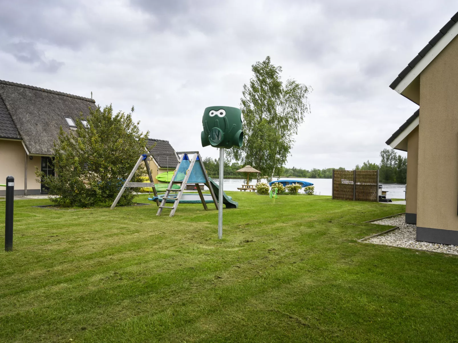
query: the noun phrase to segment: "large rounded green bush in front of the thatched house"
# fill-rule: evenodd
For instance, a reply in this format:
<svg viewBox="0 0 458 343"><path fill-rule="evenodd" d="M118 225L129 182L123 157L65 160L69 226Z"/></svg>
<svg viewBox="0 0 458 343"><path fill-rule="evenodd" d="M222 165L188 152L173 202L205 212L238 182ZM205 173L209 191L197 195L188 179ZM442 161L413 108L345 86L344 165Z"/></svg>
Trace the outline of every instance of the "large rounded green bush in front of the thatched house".
<svg viewBox="0 0 458 343"><path fill-rule="evenodd" d="M134 108L132 107L132 112ZM85 119L85 118L80 118ZM145 146L149 132L143 134L131 113L113 114L111 105L90 109L87 125L76 121L76 130L66 133L60 128L54 143L56 177L45 177L37 170L50 198L58 205L92 207L113 203ZM133 181L145 171L140 169ZM127 188L118 204L131 204L135 194Z"/></svg>

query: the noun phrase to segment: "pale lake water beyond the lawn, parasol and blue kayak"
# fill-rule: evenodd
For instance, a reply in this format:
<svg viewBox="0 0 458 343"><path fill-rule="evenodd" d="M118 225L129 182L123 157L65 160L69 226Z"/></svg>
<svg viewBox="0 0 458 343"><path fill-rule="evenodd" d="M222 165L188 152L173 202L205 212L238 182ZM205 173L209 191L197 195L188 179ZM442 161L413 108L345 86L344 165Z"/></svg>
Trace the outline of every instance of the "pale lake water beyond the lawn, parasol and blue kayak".
<svg viewBox="0 0 458 343"><path fill-rule="evenodd" d="M213 179L219 183L218 179ZM275 180L275 179L274 179ZM281 177L280 180L288 180L286 177ZM315 186L315 193L317 195L333 195L333 179L309 179L305 177L294 177L290 180L301 180L313 183ZM238 191L238 187L245 184L246 179L224 179L225 191ZM261 179L261 182L267 182L266 179ZM256 180L251 180L250 184L256 184ZM381 183L383 190L387 191L387 198L405 199L405 185L399 183ZM304 192L301 188L300 193Z"/></svg>

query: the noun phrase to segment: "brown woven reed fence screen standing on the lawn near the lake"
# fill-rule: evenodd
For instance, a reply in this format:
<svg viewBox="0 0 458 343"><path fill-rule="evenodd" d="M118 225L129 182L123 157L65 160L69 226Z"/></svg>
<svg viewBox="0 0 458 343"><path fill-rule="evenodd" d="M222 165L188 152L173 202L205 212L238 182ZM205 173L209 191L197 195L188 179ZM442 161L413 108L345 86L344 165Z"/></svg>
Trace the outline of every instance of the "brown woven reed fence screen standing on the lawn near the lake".
<svg viewBox="0 0 458 343"><path fill-rule="evenodd" d="M377 202L378 171L334 169L333 199Z"/></svg>

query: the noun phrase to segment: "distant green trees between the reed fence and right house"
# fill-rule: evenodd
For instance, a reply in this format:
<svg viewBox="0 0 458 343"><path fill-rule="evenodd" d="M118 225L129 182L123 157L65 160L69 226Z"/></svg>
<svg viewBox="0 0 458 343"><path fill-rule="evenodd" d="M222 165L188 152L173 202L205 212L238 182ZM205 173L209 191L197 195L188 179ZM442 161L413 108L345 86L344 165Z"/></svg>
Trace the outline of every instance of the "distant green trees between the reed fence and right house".
<svg viewBox="0 0 458 343"><path fill-rule="evenodd" d="M407 158L398 155L394 149L383 149L380 152L380 164L364 162L357 164L355 170L379 170L379 181L383 183L406 183Z"/></svg>

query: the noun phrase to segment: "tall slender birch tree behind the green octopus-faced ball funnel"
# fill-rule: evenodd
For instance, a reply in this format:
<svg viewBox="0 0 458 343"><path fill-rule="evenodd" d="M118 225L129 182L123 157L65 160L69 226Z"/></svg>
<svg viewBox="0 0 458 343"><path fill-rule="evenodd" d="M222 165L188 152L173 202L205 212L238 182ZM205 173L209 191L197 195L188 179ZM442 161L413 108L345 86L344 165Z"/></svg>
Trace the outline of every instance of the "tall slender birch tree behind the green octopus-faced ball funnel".
<svg viewBox="0 0 458 343"><path fill-rule="evenodd" d="M267 56L251 66L253 77L243 86L240 107L245 118L241 148L228 150L228 158L261 171L258 181L280 174L294 144L294 135L310 113L309 86L295 80L281 81L281 66Z"/></svg>

